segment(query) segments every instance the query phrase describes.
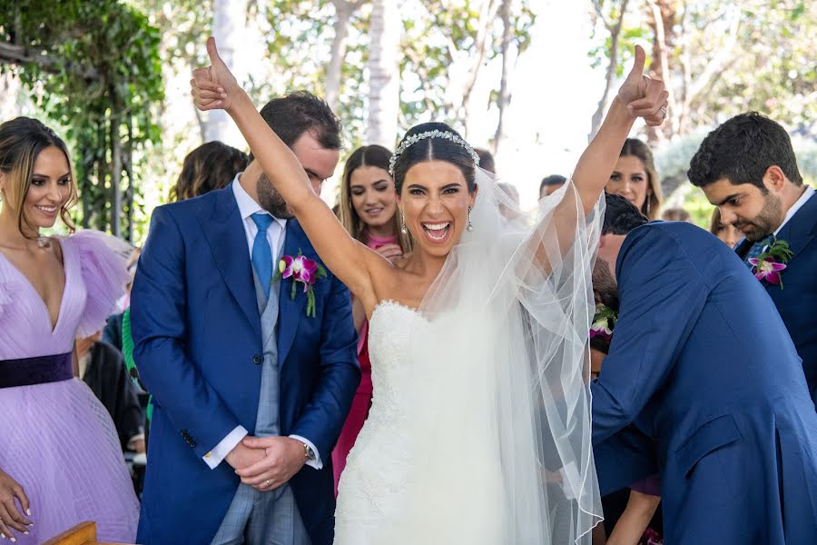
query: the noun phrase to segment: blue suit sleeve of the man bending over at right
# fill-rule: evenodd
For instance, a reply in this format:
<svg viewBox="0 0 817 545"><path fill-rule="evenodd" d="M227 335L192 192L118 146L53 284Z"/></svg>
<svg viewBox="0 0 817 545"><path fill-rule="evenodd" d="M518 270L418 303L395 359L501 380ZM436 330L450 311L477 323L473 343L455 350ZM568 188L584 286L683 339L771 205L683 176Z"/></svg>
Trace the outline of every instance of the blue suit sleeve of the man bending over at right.
<svg viewBox="0 0 817 545"><path fill-rule="evenodd" d="M594 444L635 421L661 388L710 291L692 256L661 229L635 230L621 252L619 319L591 384Z"/></svg>

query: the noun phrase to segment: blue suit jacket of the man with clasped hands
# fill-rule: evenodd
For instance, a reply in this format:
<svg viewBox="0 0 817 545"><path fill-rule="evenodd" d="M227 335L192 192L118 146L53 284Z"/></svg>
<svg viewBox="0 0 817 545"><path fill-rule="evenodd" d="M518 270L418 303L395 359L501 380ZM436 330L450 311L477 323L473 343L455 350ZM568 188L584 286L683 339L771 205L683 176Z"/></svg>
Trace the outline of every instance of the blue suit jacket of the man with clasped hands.
<svg viewBox="0 0 817 545"><path fill-rule="evenodd" d="M295 220L283 253L318 260ZM333 539L331 451L359 384L349 291L331 273L290 299L281 282L278 355L281 435L303 436L323 469L290 484L315 545ZM140 543L209 543L239 484L227 464L202 460L241 424L255 429L261 387L261 318L250 253L231 186L153 211L133 282L133 356L153 394Z"/></svg>

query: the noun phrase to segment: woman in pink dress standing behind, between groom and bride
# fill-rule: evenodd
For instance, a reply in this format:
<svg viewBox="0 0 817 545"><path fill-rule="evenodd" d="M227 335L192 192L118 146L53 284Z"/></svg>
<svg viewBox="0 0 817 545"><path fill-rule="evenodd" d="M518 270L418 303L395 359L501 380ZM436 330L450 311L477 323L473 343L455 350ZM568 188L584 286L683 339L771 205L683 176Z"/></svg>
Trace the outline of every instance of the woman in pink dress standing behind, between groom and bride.
<svg viewBox="0 0 817 545"><path fill-rule="evenodd" d="M400 230L397 193L394 180L389 176L390 160L391 152L381 145L366 145L349 155L340 182L340 222L361 243L396 263L410 252L411 240L408 233ZM372 396L369 323L363 306L356 300L352 302L352 315L359 334L361 378L349 416L340 431L338 445L332 451L336 496L340 473L346 467L346 457L369 416Z"/></svg>

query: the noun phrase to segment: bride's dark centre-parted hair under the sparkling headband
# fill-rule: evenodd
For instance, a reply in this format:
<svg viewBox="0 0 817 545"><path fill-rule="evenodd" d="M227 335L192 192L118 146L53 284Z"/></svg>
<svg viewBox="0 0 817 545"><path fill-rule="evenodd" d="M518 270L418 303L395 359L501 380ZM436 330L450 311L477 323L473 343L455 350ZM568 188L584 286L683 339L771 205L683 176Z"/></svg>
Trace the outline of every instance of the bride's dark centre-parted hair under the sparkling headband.
<svg viewBox="0 0 817 545"><path fill-rule="evenodd" d="M444 123L422 123L411 127L403 136L403 143L414 134L428 133L428 131L440 131L456 135L465 142L465 138ZM399 149L399 145L398 145ZM400 194L403 190L403 181L406 179L408 169L417 163L426 161L445 161L456 166L468 183L468 191L474 193L477 190L477 164L471 154L463 145L457 144L445 138L424 138L398 155L394 163L394 188Z"/></svg>

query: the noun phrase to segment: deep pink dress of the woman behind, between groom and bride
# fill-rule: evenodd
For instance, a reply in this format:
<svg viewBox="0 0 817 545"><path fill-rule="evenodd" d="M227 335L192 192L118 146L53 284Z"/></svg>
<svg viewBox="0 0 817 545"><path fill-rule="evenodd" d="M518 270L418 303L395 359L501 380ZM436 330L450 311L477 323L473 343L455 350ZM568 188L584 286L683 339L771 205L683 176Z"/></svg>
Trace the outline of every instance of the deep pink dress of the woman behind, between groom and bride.
<svg viewBox="0 0 817 545"><path fill-rule="evenodd" d="M396 244L398 238L396 236L379 237L367 234L366 245L372 250L377 250L380 246L386 244ZM351 409L349 409L349 416L343 423L343 428L340 430L340 438L335 450L332 451L332 471L335 475L335 496L338 495L338 481L340 481L340 473L346 467L346 457L349 456L349 451L355 446L355 441L358 439L358 433L363 429L363 424L369 418L369 408L371 407L371 363L369 362L369 322L363 322L360 328L358 337L358 362L360 363L360 385L358 391L355 392L355 399L352 401Z"/></svg>

